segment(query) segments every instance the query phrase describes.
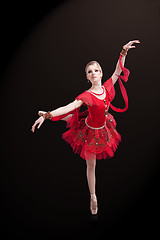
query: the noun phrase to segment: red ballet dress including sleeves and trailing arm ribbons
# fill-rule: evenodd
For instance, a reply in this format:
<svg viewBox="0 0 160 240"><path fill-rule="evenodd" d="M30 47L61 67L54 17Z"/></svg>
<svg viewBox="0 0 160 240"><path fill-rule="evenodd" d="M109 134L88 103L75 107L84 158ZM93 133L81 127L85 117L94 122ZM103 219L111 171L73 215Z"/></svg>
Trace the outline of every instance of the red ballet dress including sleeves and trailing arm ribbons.
<svg viewBox="0 0 160 240"><path fill-rule="evenodd" d="M89 91L83 92L76 99L82 100L88 110L80 113L80 108L75 109L67 121L69 130L63 133L63 139L71 145L75 153L79 153L85 160L91 159L93 153L96 154L96 159L113 157L121 141L121 136L116 131L115 119L108 112L109 107L118 112L124 112L128 108L128 97L121 79L127 81L130 72L122 66L121 57L120 55L119 61L124 75L119 76L119 84L125 100L125 108L115 108L111 104L115 89L110 78L102 86L106 92L105 99L98 99ZM68 114L53 117L51 120L60 120Z"/></svg>

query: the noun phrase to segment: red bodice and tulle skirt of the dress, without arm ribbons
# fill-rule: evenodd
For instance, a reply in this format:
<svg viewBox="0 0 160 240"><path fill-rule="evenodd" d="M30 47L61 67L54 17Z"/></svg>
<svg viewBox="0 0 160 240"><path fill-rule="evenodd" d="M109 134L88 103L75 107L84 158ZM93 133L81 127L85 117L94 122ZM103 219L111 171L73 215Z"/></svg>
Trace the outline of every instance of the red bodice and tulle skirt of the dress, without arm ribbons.
<svg viewBox="0 0 160 240"><path fill-rule="evenodd" d="M93 94L85 91L80 94L77 100L82 100L87 105L88 110L79 113L76 109L73 116L68 120L70 128L63 134L63 139L68 142L75 153L89 160L92 154L96 154L96 159L109 158L114 156L119 142L121 141L120 134L116 131L116 122L111 114L104 116L105 104L103 100L98 99ZM109 95L106 92L106 104L109 106ZM94 128L91 129L85 123Z"/></svg>

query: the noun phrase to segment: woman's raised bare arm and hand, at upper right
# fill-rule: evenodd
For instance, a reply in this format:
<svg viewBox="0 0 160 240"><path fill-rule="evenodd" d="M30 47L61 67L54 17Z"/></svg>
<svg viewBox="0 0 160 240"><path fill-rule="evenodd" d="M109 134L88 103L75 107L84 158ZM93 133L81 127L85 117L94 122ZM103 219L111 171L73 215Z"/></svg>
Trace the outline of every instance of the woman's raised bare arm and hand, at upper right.
<svg viewBox="0 0 160 240"><path fill-rule="evenodd" d="M127 44L123 45L124 52L127 53L129 49L135 48L135 46L132 46L132 44L134 44L134 43L140 43L140 41L139 40L133 40L133 41L130 41ZM125 63L126 55L122 53L121 62L122 62L123 66L124 66L124 63ZM114 71L114 73L113 73L113 75L111 77L112 81L113 81L113 84L116 83L116 81L118 79L117 75L120 75L121 72L122 72L122 69L121 69L121 66L119 64L119 59L118 59L118 62L117 62L117 65L116 65L116 69L115 69L115 71Z"/></svg>

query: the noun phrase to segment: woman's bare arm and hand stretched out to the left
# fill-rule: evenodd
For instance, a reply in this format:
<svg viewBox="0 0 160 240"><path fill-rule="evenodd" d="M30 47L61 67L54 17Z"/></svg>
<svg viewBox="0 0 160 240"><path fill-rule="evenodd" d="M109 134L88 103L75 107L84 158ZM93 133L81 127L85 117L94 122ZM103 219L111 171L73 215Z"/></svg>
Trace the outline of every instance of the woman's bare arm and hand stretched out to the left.
<svg viewBox="0 0 160 240"><path fill-rule="evenodd" d="M52 117L57 117L57 116L60 116L60 115L63 115L63 114L67 114L69 112L74 111L76 108L79 108L82 104L83 104L82 100L77 100L76 99L75 101L69 103L68 105L66 105L64 107L60 107L60 108L57 108L57 109L51 111L50 114L51 114ZM36 125L38 125L37 128L39 129L40 126L42 125L42 123L44 122L44 120L45 119L44 119L43 116L39 117L32 126L32 129L31 129L32 132L35 131Z"/></svg>

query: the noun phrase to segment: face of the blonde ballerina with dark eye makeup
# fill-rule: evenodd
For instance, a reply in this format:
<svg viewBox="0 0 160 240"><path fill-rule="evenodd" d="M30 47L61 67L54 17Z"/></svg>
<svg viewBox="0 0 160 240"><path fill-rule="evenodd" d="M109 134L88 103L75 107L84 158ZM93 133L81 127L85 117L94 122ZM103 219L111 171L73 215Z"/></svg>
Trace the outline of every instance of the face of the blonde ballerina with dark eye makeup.
<svg viewBox="0 0 160 240"><path fill-rule="evenodd" d="M91 83L101 81L102 71L99 69L99 67L96 64L89 65L86 71L86 76Z"/></svg>

